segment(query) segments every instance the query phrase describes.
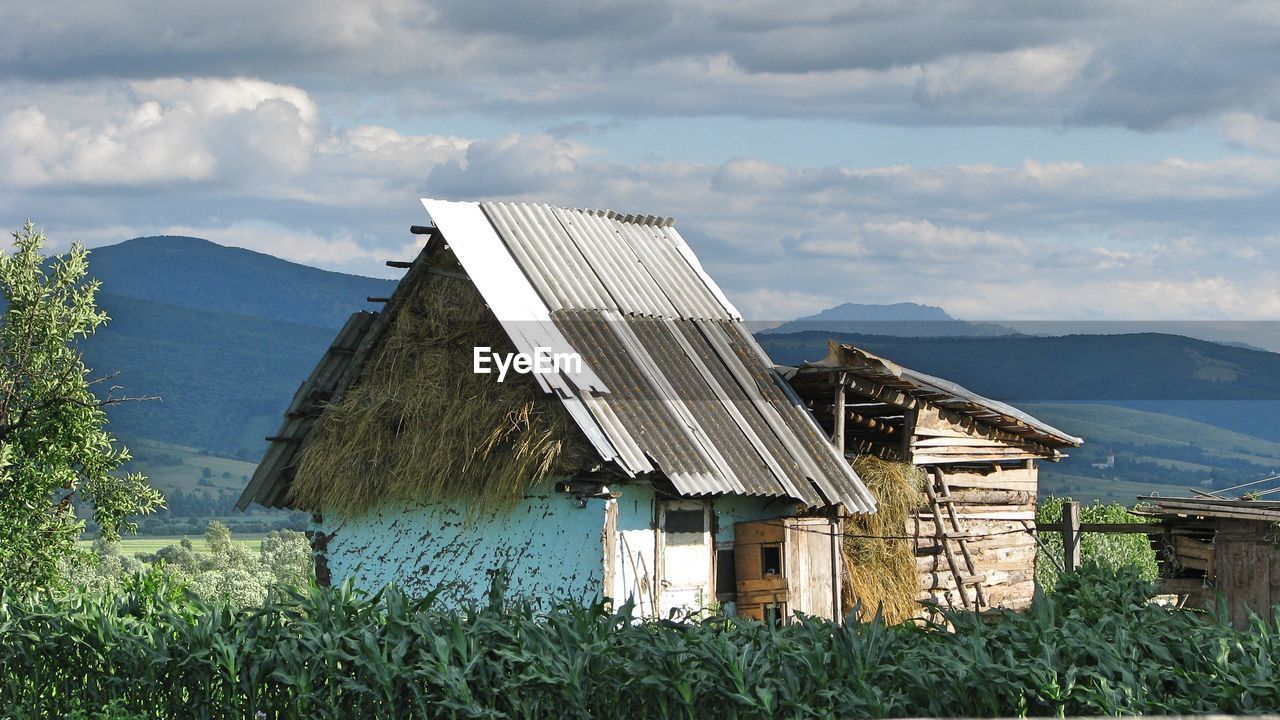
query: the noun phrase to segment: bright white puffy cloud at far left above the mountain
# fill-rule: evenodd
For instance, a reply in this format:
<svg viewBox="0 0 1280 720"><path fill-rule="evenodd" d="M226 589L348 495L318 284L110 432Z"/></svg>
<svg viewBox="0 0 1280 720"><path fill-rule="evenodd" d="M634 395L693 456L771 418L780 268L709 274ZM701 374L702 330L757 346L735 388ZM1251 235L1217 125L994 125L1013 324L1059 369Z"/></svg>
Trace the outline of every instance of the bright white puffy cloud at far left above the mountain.
<svg viewBox="0 0 1280 720"><path fill-rule="evenodd" d="M315 104L296 87L247 78L133 82L72 104L54 94L8 110L0 160L19 187L289 174L306 169L316 122Z"/></svg>

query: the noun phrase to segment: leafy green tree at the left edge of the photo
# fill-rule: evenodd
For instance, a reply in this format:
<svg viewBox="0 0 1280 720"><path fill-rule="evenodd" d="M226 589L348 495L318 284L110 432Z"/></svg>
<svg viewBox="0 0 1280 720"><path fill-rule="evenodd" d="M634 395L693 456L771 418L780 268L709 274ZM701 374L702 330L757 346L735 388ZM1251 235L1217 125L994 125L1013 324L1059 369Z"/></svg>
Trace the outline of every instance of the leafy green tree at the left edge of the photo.
<svg viewBox="0 0 1280 720"><path fill-rule="evenodd" d="M84 528L77 503L110 541L164 497L141 474L119 473L129 452L106 432L104 407L129 398L93 395L109 378L90 378L77 345L108 322L88 251L77 242L45 258L31 223L13 238L0 251L0 588L20 592L56 584Z"/></svg>

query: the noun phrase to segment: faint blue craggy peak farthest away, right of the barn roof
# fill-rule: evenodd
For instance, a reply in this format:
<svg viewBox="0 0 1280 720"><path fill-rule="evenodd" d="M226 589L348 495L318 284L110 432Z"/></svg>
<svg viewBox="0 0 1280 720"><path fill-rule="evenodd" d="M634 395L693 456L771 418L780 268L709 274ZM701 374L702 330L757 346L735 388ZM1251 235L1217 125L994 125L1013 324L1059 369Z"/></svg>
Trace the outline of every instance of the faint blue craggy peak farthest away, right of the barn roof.
<svg viewBox="0 0 1280 720"><path fill-rule="evenodd" d="M916 302L865 305L845 302L814 315L782 323L762 334L827 332L901 337L989 337L1014 334L1014 331L992 323L957 320L942 307Z"/></svg>

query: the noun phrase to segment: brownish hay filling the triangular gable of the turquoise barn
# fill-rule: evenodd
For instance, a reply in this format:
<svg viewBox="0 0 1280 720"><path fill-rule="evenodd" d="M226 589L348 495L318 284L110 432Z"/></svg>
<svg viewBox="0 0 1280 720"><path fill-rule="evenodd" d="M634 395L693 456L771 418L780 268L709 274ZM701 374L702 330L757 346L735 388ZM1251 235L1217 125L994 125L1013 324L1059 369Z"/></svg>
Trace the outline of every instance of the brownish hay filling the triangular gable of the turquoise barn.
<svg viewBox="0 0 1280 720"><path fill-rule="evenodd" d="M456 265L454 265L456 266ZM476 374L472 348L515 347L470 281L422 273L360 379L316 420L291 488L339 515L384 502L513 503L589 448L532 375Z"/></svg>

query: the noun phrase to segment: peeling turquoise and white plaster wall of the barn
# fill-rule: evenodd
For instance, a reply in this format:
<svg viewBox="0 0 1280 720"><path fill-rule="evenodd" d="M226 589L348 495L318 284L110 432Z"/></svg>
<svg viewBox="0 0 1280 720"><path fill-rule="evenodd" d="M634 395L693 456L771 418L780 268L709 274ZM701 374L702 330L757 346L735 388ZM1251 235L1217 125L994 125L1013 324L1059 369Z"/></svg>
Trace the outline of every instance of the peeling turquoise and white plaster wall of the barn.
<svg viewBox="0 0 1280 720"><path fill-rule="evenodd" d="M652 486L613 489L621 497L588 500L586 507L548 489L500 511L477 509L468 515L472 509L465 501L420 502L357 518L325 516L314 529L324 533L334 584L352 578L372 591L396 583L415 596L443 587L444 600L463 603L481 601L494 571L507 568L509 596L591 602L607 594L618 603L632 600L637 615L662 615L660 609L669 605L664 601L673 600L663 597L660 574L680 577L682 568L669 564L682 556L657 555L663 543L655 529L658 498ZM714 530L708 555L732 547L735 523L792 510L786 502L760 497L722 496L707 502ZM605 528L614 529L612 537L605 537ZM709 557L698 565L701 573L713 568ZM732 612L732 605L724 610Z"/></svg>

